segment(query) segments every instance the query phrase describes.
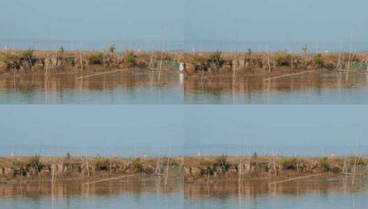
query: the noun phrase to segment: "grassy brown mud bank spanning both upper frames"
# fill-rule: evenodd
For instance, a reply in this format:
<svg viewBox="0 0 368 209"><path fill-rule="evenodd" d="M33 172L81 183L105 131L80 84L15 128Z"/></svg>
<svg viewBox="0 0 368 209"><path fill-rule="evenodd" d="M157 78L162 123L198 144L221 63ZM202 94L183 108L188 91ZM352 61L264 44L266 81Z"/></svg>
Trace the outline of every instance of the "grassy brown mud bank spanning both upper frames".
<svg viewBox="0 0 368 209"><path fill-rule="evenodd" d="M59 73L106 72L111 69L158 69L177 71L182 65L186 76L211 74L279 75L310 69L329 71L366 71L368 54L347 52L292 54L290 52L118 52L114 48L100 51L3 50L0 52L0 72Z"/></svg>

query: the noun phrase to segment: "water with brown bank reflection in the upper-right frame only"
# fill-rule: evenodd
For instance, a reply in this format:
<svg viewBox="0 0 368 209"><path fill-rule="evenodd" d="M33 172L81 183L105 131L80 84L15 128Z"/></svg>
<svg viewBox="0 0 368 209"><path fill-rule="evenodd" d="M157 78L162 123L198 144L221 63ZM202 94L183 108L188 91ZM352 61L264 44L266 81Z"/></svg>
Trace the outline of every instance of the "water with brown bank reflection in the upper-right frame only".
<svg viewBox="0 0 368 209"><path fill-rule="evenodd" d="M187 104L368 104L367 74L305 74L264 81L263 76L188 78Z"/></svg>

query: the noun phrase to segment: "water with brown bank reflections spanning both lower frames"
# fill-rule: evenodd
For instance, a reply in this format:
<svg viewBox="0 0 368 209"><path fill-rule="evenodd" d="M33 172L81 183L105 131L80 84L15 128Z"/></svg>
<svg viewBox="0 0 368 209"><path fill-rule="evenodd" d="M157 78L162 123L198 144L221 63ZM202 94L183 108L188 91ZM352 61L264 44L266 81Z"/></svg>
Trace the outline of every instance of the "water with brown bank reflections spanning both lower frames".
<svg viewBox="0 0 368 209"><path fill-rule="evenodd" d="M80 186L79 182L0 184L0 208L366 208L368 179L304 179L270 186L269 181L220 181L183 185L163 179L111 181Z"/></svg>

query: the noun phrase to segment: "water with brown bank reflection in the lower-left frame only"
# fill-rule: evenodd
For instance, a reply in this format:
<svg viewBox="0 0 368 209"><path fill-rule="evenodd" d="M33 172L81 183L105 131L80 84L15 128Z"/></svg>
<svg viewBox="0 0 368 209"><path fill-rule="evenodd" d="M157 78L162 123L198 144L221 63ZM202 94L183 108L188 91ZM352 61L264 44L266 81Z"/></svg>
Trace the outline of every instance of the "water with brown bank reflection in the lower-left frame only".
<svg viewBox="0 0 368 209"><path fill-rule="evenodd" d="M183 208L182 181L164 178L110 181L90 186L80 182L33 182L0 185L0 208Z"/></svg>

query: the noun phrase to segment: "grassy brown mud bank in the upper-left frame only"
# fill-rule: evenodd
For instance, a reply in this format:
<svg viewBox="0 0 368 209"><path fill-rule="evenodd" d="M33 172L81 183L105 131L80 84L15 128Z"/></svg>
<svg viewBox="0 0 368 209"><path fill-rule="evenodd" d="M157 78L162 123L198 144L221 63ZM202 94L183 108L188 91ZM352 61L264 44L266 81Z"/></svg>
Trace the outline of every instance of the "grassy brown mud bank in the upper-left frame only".
<svg viewBox="0 0 368 209"><path fill-rule="evenodd" d="M109 72L116 69L173 71L179 69L182 54L172 53L162 58L162 52L116 50L101 51L0 51L0 73L59 74ZM161 62L162 61L162 62Z"/></svg>

